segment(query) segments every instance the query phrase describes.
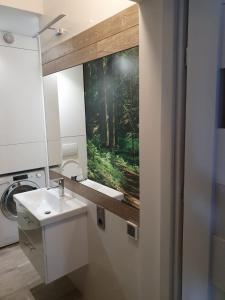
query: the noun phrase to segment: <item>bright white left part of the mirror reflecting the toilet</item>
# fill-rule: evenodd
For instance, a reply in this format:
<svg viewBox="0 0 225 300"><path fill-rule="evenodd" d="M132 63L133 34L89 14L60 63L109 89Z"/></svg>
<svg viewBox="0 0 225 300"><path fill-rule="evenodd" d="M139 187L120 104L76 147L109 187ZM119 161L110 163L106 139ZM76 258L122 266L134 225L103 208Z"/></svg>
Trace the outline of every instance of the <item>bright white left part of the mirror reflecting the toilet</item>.
<svg viewBox="0 0 225 300"><path fill-rule="evenodd" d="M87 178L83 66L43 78L48 163L66 177Z"/></svg>

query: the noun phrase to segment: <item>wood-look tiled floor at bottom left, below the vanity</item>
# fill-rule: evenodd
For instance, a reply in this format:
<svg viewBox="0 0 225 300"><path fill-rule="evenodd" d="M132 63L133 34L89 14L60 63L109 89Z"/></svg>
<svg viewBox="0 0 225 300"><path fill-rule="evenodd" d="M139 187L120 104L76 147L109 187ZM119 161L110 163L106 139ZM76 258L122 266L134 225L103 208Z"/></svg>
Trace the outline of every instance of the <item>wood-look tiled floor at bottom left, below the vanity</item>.
<svg viewBox="0 0 225 300"><path fill-rule="evenodd" d="M19 245L0 249L0 300L81 299L67 277L43 284Z"/></svg>

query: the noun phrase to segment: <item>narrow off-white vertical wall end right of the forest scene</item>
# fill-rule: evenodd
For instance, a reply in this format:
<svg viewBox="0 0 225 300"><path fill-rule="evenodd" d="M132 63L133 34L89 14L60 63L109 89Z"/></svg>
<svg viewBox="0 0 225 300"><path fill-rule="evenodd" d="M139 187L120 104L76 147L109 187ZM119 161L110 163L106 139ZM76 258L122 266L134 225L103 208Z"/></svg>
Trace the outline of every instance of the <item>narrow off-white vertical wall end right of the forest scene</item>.
<svg viewBox="0 0 225 300"><path fill-rule="evenodd" d="M140 5L140 300L160 299L162 1Z"/></svg>

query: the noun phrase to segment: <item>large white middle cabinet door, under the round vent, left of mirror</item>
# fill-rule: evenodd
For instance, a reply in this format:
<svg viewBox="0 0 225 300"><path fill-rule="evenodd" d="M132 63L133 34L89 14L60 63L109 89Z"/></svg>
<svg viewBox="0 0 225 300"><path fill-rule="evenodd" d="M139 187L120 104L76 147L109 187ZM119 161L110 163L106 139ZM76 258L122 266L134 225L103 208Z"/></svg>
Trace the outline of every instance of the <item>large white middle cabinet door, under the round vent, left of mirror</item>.
<svg viewBox="0 0 225 300"><path fill-rule="evenodd" d="M44 141L38 51L0 47L0 145Z"/></svg>

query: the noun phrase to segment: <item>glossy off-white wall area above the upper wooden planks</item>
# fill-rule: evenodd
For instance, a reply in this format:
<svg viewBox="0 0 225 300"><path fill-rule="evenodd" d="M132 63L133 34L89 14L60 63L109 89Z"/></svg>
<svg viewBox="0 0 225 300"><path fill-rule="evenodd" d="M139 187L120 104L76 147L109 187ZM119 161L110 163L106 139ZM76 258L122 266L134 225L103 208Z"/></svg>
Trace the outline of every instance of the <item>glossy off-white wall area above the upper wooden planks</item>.
<svg viewBox="0 0 225 300"><path fill-rule="evenodd" d="M52 31L42 34L42 48L46 50L131 5L134 5L134 3L129 0L65 0L57 1L57 4L55 0L45 0L44 16L41 18L41 26L59 14L65 13L67 16L58 22L56 26L58 27L60 25L68 32L61 37L55 37Z"/></svg>

